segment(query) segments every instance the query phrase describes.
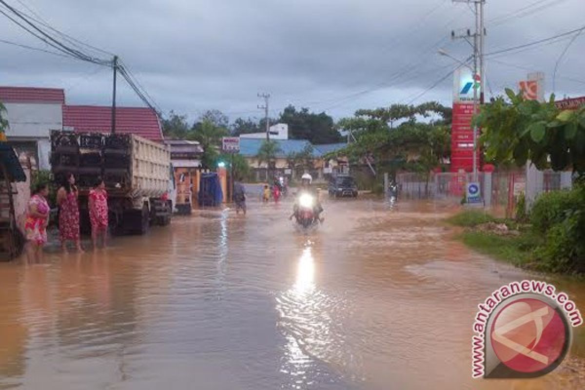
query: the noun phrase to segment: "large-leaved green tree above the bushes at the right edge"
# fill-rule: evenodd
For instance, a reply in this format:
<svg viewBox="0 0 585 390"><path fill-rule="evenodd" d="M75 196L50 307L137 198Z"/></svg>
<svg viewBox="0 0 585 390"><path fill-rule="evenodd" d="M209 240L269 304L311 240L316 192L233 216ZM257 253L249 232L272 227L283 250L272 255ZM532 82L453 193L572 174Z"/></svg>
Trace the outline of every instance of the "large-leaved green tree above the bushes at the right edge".
<svg viewBox="0 0 585 390"><path fill-rule="evenodd" d="M506 89L502 96L481 107L474 118L483 134L480 146L488 160L519 166L531 160L539 169L585 172L585 106L575 111L556 108L549 102L526 100ZM550 161L550 162L549 162Z"/></svg>

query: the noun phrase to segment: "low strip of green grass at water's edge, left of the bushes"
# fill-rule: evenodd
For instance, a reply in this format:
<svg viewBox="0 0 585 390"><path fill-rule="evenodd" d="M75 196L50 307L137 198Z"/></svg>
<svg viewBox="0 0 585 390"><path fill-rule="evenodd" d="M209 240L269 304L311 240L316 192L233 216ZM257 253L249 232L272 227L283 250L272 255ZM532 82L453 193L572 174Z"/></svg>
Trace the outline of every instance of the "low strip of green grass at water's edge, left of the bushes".
<svg viewBox="0 0 585 390"><path fill-rule="evenodd" d="M512 263L517 267L526 267L532 261L532 248L527 237L505 237L484 232L464 232L461 234L464 244L473 249Z"/></svg>

